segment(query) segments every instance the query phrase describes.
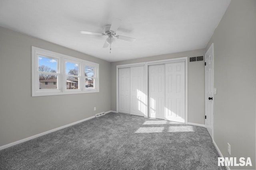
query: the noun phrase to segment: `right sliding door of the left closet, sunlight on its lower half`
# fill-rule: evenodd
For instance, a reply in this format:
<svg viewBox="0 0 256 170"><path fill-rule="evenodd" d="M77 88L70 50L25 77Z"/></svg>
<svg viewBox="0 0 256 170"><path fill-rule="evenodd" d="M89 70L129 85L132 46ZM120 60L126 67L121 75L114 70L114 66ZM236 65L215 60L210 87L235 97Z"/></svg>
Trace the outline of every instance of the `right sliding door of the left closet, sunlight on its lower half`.
<svg viewBox="0 0 256 170"><path fill-rule="evenodd" d="M144 116L145 90L144 66L131 67L131 109L132 115Z"/></svg>

